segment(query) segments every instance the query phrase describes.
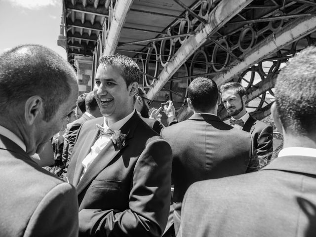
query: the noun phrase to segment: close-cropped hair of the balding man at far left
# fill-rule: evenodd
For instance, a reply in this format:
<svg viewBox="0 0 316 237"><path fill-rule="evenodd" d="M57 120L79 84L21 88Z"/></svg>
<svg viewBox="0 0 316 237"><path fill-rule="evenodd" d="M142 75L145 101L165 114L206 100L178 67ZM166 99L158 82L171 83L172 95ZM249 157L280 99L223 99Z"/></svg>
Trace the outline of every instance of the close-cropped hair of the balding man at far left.
<svg viewBox="0 0 316 237"><path fill-rule="evenodd" d="M73 67L51 49L37 44L14 47L0 55L0 114L39 95L44 120L49 121L68 99L72 80L75 83Z"/></svg>

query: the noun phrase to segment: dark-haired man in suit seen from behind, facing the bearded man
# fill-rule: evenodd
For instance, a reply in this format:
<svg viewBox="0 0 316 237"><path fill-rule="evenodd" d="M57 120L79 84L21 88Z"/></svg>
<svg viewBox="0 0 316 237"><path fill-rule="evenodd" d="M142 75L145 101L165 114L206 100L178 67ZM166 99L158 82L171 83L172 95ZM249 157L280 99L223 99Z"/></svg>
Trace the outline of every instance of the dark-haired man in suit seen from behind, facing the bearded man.
<svg viewBox="0 0 316 237"><path fill-rule="evenodd" d="M191 184L200 180L256 171L257 156L251 135L217 117L221 95L212 79L198 77L188 87L194 115L161 131L173 153L174 227L180 225L181 204Z"/></svg>

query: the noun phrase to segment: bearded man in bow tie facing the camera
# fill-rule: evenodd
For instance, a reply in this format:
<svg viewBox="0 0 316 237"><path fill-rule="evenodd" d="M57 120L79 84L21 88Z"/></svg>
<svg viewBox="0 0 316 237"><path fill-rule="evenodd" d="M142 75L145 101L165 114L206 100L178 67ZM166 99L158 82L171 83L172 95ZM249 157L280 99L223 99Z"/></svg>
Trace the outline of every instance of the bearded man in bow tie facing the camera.
<svg viewBox="0 0 316 237"><path fill-rule="evenodd" d="M264 167L271 159L273 151L272 126L252 118L246 111L246 90L238 82L228 82L221 86L222 100L231 117L231 126L250 132L257 151L260 166Z"/></svg>

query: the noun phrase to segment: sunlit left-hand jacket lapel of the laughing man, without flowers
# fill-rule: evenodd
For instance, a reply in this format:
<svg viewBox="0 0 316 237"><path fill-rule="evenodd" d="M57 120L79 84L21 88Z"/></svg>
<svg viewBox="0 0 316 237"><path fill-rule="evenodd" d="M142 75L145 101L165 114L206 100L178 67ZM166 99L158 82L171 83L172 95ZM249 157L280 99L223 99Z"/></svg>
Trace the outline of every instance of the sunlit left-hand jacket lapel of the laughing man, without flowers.
<svg viewBox="0 0 316 237"><path fill-rule="evenodd" d="M82 172L82 160L89 154L91 147L93 146L96 138L99 135L99 129L94 128L93 130L90 130L88 134L85 136L84 143L81 143L82 148L80 150L79 156L77 158L75 173L74 173L74 179L72 184L76 187L79 183L80 175ZM79 148L79 147L77 147ZM71 181L71 180L70 180Z"/></svg>

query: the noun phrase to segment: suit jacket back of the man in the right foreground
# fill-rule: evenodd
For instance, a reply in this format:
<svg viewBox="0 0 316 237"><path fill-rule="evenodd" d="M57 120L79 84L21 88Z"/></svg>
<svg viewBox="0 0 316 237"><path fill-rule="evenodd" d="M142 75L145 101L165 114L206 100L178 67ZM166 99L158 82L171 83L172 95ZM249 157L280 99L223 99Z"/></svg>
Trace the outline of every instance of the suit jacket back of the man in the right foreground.
<svg viewBox="0 0 316 237"><path fill-rule="evenodd" d="M279 157L259 172L193 184L179 237L315 237L315 167L315 157Z"/></svg>

